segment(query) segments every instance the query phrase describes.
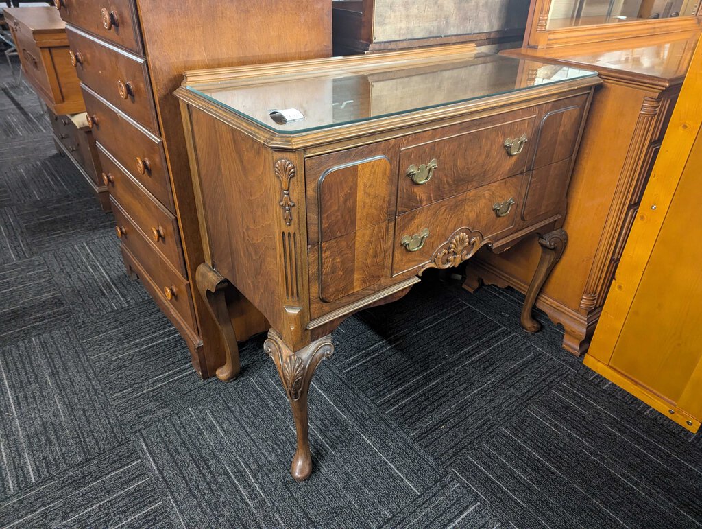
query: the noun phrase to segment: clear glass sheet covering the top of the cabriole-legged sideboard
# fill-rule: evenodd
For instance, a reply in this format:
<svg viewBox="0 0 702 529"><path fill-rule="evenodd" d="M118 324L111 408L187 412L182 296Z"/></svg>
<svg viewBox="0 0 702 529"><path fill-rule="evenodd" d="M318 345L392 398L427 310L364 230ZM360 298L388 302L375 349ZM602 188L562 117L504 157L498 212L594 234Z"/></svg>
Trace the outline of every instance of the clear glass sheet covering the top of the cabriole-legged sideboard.
<svg viewBox="0 0 702 529"><path fill-rule="evenodd" d="M266 129L293 134L595 75L574 67L477 53L473 58L423 65L326 67L294 78L277 74L189 85L187 89Z"/></svg>

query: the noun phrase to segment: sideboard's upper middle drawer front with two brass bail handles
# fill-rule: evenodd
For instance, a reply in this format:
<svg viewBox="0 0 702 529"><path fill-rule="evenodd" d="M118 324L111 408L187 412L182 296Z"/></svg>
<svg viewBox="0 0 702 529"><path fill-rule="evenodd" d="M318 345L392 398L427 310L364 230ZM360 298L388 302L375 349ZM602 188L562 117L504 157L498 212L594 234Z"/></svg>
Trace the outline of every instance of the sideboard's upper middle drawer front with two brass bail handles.
<svg viewBox="0 0 702 529"><path fill-rule="evenodd" d="M535 124L533 110L510 113L442 130L442 138L403 148L398 213L522 174L527 170Z"/></svg>

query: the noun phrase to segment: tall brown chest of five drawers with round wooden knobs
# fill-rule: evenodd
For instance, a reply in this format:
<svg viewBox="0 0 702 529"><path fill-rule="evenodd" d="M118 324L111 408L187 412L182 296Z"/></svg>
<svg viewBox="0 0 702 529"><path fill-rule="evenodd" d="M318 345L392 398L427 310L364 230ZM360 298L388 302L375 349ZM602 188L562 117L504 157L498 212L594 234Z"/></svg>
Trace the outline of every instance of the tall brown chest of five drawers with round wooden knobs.
<svg viewBox="0 0 702 529"><path fill-rule="evenodd" d="M67 22L126 267L183 335L195 370L210 377L225 358L218 327L193 291L202 244L173 90L188 68L329 56L331 6L322 0L258 0L246 8L221 0L167 8L157 0L55 4ZM243 319L249 334L264 326L256 313ZM231 378L226 371L218 376Z"/></svg>

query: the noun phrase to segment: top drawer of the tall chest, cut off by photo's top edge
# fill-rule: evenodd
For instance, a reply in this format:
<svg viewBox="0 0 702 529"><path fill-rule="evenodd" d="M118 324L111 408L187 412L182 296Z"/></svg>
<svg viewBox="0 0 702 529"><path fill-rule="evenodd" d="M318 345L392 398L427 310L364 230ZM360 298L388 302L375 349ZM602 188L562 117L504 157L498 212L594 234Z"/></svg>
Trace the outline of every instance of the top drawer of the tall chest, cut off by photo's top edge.
<svg viewBox="0 0 702 529"><path fill-rule="evenodd" d="M138 55L143 55L138 16L132 0L60 0L61 18Z"/></svg>

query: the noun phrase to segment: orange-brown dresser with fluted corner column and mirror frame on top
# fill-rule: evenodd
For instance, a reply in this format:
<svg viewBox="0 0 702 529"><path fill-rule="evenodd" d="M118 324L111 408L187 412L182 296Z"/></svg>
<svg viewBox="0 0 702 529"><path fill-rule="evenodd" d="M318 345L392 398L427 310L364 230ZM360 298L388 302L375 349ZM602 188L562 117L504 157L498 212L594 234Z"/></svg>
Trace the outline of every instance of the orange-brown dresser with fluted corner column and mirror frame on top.
<svg viewBox="0 0 702 529"><path fill-rule="evenodd" d="M555 27L550 1L531 6L525 47L503 53L595 70L595 93L569 191L570 244L537 306L564 327L563 346L588 348L636 216L661 140L700 34L699 18L634 20ZM691 8L690 8L691 9ZM646 37L635 37L651 34ZM627 38L622 38L627 37ZM481 282L526 292L538 263L533 241L510 252L483 252L467 268L466 288Z"/></svg>

